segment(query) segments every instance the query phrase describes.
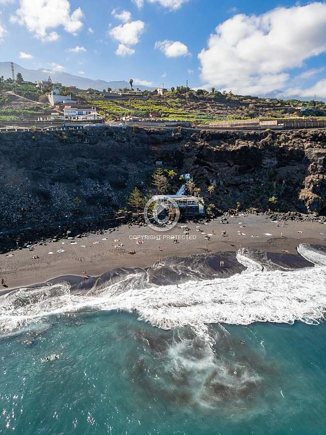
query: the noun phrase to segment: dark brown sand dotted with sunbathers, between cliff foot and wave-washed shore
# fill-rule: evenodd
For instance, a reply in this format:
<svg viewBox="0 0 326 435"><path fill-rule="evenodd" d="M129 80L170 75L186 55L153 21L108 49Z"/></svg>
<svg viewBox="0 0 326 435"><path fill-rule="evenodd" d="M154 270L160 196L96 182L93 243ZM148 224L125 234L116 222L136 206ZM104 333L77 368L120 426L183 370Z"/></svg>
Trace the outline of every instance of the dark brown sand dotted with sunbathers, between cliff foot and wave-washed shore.
<svg viewBox="0 0 326 435"><path fill-rule="evenodd" d="M272 253L282 253L285 249L289 254L297 255L296 247L300 243L326 246L326 225L320 222L288 221L284 227L279 222L278 227L276 222L270 221L266 216L228 217L229 224L221 224L220 220L221 218L214 219L207 225L187 222L190 228L188 238L181 228L185 223L180 222L174 228L160 232L148 226L122 225L115 231L104 231L104 234L64 238L55 243L34 245L33 251L24 248L1 254L0 277L4 279L7 288L0 286L0 295L10 289L45 282L58 276L82 276L83 270L89 276L98 276L116 267L145 268L159 258L162 260L202 253L235 252L245 247ZM201 231L197 231L196 226ZM222 237L222 231L226 231L225 237ZM202 232L211 234L210 240L205 240ZM266 235L267 233L271 235ZM136 244L132 240L138 235L141 236L139 240L144 240L145 243ZM143 235L148 238L143 238ZM173 243L169 238L171 236L180 237L179 243ZM185 238L182 239L182 236ZM157 240L158 237L160 240ZM122 247L115 248L121 243ZM58 253L60 249L64 252ZM135 250L135 254L130 254L131 250ZM33 259L33 256L40 258Z"/></svg>

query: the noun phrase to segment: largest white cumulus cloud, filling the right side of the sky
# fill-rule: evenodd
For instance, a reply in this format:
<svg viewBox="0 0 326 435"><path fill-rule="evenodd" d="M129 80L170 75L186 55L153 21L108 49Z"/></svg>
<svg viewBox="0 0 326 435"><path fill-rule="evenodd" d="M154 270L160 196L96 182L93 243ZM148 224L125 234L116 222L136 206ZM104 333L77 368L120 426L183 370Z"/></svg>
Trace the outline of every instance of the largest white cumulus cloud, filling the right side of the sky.
<svg viewBox="0 0 326 435"><path fill-rule="evenodd" d="M201 78L243 94L285 87L289 69L326 51L325 26L324 2L235 15L216 27L199 53Z"/></svg>

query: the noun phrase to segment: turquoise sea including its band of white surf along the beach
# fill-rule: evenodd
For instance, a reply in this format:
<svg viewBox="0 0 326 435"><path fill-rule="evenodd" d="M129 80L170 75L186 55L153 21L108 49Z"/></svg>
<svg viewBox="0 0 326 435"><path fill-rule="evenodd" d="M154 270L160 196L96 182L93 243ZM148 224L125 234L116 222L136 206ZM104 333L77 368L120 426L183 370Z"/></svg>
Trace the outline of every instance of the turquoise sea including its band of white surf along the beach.
<svg viewBox="0 0 326 435"><path fill-rule="evenodd" d="M326 253L298 251L311 266L2 298L0 434L326 434Z"/></svg>

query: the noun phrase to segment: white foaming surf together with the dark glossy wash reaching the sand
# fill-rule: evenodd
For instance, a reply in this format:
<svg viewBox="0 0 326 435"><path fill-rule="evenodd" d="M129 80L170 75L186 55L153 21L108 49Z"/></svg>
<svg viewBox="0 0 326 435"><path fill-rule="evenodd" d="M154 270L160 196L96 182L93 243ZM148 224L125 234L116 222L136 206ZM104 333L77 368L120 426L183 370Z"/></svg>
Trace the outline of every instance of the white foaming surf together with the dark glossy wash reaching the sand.
<svg viewBox="0 0 326 435"><path fill-rule="evenodd" d="M246 249L165 259L82 284L21 288L1 298L0 331L42 323L48 314L95 310L135 312L159 328L190 326L200 335L213 323L318 324L326 312L326 249L304 244L298 252L301 257Z"/></svg>

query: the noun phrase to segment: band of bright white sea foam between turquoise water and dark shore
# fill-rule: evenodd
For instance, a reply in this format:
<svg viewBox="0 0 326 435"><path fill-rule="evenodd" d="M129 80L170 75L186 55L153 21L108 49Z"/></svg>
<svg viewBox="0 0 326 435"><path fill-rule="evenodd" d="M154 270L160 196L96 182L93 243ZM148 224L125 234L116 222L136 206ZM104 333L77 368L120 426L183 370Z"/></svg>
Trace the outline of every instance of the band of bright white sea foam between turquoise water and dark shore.
<svg viewBox="0 0 326 435"><path fill-rule="evenodd" d="M326 255L304 245L300 254L315 267L264 270L260 263L237 254L246 269L228 278L189 281L177 285L144 286L141 272L85 296L71 295L69 284L19 289L0 306L0 329L39 323L46 314L91 310L136 312L162 329L190 326L205 334L212 323L248 325L253 322L318 324L326 308ZM140 269L138 269L140 270ZM133 285L134 283L134 285ZM17 306L17 300L25 303Z"/></svg>

